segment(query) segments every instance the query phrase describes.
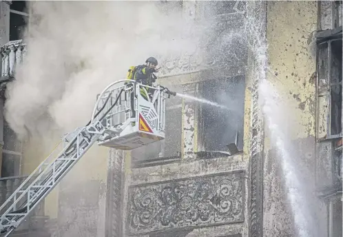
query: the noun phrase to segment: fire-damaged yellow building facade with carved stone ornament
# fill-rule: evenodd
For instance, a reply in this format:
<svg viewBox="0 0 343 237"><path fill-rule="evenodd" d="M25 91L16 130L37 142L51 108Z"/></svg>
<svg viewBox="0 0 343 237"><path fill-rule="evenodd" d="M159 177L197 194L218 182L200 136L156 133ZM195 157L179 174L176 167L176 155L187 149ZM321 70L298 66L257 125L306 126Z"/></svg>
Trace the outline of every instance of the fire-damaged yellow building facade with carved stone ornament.
<svg viewBox="0 0 343 237"><path fill-rule="evenodd" d="M167 100L165 141L131 152L92 147L17 235L298 236L280 147L260 104L266 80L289 116L287 145L306 186L298 198L311 199L310 236L342 236L342 1L176 3L213 34L205 54L161 57L158 83L228 110ZM0 4L3 110L26 50L13 33L23 25L16 17L30 15ZM23 150L3 113L0 139L3 203L41 159Z"/></svg>

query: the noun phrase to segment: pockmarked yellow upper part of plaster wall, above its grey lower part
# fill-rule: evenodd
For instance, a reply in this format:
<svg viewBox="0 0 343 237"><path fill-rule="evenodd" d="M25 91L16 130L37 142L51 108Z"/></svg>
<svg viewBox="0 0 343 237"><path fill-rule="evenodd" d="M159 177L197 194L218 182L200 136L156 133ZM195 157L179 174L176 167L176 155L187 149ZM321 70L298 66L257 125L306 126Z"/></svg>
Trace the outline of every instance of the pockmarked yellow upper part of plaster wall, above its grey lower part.
<svg viewBox="0 0 343 237"><path fill-rule="evenodd" d="M316 2L268 3L268 81L292 110L291 137L315 135Z"/></svg>

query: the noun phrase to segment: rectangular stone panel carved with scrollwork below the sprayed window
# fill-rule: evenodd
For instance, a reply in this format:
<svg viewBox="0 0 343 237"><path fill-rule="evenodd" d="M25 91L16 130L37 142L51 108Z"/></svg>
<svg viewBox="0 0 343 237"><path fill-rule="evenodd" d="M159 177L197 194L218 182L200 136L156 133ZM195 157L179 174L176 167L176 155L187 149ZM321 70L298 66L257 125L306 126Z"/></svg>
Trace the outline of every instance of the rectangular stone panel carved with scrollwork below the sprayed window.
<svg viewBox="0 0 343 237"><path fill-rule="evenodd" d="M127 233L243 222L244 175L240 171L131 186Z"/></svg>

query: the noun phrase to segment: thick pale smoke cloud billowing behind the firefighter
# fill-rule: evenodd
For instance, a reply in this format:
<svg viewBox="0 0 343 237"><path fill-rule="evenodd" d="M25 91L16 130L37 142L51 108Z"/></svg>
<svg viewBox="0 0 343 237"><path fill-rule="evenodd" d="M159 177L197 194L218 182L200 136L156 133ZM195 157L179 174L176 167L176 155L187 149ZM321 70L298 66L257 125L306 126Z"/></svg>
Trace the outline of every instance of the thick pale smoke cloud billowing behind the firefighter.
<svg viewBox="0 0 343 237"><path fill-rule="evenodd" d="M168 4L30 2L27 54L7 92L12 129L21 136L70 132L89 121L96 94L125 79L130 65L194 50L200 32L183 21L177 1Z"/></svg>

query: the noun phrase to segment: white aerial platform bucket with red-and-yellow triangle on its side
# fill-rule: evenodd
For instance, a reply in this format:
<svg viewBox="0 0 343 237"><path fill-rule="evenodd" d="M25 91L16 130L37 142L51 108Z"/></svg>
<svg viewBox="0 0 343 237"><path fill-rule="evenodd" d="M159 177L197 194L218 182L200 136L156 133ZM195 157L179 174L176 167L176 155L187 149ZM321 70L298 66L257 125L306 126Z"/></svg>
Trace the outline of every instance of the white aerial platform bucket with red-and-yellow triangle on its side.
<svg viewBox="0 0 343 237"><path fill-rule="evenodd" d="M123 81L127 81L127 84L120 85L121 81L118 81L109 85L96 103L93 114L98 112L99 107L110 109L107 114L100 113L97 116L105 116L101 123L107 128L98 145L118 150L133 150L163 140L167 95L160 87ZM151 92L151 95L147 92Z"/></svg>

